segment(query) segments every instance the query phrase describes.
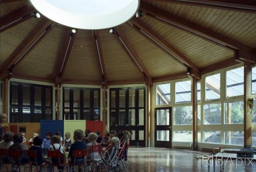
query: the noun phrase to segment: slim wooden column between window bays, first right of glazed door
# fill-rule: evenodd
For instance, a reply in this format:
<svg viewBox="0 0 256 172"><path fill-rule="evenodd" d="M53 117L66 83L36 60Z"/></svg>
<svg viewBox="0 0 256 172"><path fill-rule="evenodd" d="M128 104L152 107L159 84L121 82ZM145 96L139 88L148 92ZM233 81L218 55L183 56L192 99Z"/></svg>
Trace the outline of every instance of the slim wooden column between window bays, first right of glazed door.
<svg viewBox="0 0 256 172"><path fill-rule="evenodd" d="M193 103L193 150L198 150L198 124L197 124L197 79L192 79L192 103Z"/></svg>

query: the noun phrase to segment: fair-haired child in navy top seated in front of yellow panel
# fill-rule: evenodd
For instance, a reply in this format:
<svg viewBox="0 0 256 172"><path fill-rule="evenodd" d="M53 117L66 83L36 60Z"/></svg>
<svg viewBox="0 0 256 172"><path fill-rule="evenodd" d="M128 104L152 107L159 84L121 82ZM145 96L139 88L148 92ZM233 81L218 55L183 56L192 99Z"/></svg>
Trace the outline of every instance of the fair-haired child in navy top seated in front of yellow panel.
<svg viewBox="0 0 256 172"><path fill-rule="evenodd" d="M70 151L69 151L69 164L76 164L79 166L79 164L84 163L84 157L76 157L76 162L74 162L74 157L73 157L73 151L75 150L85 150L86 149L86 143L82 141L84 138L83 131L82 130L75 130L74 131L74 143L71 144ZM71 167L71 171L74 171L73 166ZM82 171L81 166L79 166L79 172Z"/></svg>

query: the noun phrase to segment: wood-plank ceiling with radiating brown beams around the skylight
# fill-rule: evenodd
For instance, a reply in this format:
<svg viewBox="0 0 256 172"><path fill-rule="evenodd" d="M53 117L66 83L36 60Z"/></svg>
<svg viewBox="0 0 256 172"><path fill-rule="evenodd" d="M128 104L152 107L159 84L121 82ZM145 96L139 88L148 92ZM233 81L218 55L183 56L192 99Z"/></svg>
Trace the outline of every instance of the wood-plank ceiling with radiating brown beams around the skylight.
<svg viewBox="0 0 256 172"><path fill-rule="evenodd" d="M142 16L114 33L75 34L44 16L32 17L28 1L0 3L2 79L152 84L256 62L256 3L249 0L142 0Z"/></svg>

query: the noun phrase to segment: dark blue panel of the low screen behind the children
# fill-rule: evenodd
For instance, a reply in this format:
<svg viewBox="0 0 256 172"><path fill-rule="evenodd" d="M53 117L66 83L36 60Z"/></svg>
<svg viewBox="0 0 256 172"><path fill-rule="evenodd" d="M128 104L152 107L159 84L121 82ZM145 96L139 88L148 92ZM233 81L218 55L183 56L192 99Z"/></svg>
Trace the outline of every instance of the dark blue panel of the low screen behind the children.
<svg viewBox="0 0 256 172"><path fill-rule="evenodd" d="M60 131L63 138L64 121L63 120L41 120L40 121L41 137L45 138L46 133L51 132L53 135Z"/></svg>

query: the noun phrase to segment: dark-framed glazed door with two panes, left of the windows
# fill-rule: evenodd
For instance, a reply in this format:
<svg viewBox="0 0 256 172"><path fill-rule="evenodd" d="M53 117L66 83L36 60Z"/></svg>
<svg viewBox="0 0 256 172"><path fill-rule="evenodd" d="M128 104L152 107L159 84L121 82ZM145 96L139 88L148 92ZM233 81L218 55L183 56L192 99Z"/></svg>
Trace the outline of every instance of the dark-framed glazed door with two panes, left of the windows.
<svg viewBox="0 0 256 172"><path fill-rule="evenodd" d="M155 110L155 146L172 148L172 109L156 108Z"/></svg>

